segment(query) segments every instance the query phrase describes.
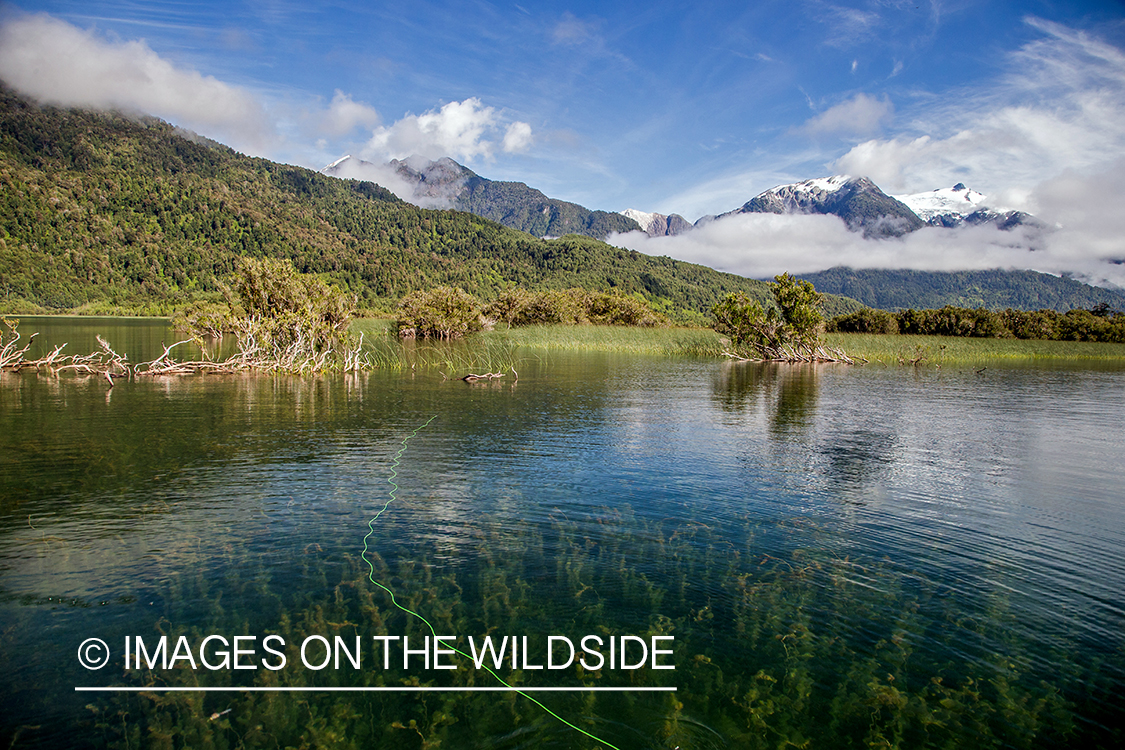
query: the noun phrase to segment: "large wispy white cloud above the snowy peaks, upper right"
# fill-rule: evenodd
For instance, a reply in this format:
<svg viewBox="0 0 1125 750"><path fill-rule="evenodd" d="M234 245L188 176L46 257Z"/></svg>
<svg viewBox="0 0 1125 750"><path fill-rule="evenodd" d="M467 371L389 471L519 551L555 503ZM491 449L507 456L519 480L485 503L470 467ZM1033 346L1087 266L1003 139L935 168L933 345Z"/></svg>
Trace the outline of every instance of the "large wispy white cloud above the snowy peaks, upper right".
<svg viewBox="0 0 1125 750"><path fill-rule="evenodd" d="M1097 169L1107 154L1125 153L1125 55L1058 24L1027 22L1044 38L1014 53L993 85L910 112L898 136L855 146L835 169L892 190L962 181L1018 197L1063 170Z"/></svg>

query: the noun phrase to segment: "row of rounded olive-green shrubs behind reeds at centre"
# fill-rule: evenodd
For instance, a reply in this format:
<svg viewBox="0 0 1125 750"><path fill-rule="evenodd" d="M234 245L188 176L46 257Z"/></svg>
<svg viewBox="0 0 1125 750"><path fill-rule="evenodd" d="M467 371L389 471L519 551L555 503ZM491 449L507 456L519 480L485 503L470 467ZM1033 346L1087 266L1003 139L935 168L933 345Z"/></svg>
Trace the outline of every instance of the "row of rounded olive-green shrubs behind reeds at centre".
<svg viewBox="0 0 1125 750"><path fill-rule="evenodd" d="M641 299L602 291L508 289L483 305L461 289L439 287L403 298L396 327L406 337L458 338L494 323L510 328L550 324L664 326L668 319Z"/></svg>

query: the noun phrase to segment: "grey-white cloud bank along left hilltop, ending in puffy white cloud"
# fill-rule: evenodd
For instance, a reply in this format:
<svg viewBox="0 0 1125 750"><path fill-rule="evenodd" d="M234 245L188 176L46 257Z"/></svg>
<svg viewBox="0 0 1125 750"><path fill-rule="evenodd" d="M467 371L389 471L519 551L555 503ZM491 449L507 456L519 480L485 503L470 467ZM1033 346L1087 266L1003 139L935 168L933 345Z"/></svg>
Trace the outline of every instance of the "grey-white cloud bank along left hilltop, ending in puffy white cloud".
<svg viewBox="0 0 1125 750"><path fill-rule="evenodd" d="M46 13L7 13L0 22L0 78L38 101L154 115L254 155L305 153L286 133L336 147L358 130L370 134L363 154L380 161L414 154L462 161L522 153L531 126L510 121L479 99L447 103L381 125L379 112L336 90L332 101L295 108L249 89L178 66L144 40L118 40ZM313 156L312 159L316 159Z"/></svg>

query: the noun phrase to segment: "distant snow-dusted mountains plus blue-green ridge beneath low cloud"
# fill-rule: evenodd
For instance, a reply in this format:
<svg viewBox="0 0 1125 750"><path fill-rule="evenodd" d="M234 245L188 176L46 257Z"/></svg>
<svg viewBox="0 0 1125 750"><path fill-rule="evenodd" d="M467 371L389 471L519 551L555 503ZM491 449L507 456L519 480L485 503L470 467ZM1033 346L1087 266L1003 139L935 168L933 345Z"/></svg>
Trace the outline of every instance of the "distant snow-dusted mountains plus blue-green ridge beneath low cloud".
<svg viewBox="0 0 1125 750"><path fill-rule="evenodd" d="M683 235L710 222L753 213L838 216L850 231L872 241L929 227L951 229L992 224L1000 229L1019 226L1046 229L1034 216L993 207L986 196L963 183L928 192L890 196L867 178L831 175L771 188L737 209L704 216L694 224L678 214L627 209L618 216L629 224L621 225L608 219L613 216L611 214L548 198L522 182L486 180L450 159L394 161L382 169L388 168L405 183L415 202L451 206L540 236L562 231L594 237L629 231L645 232L654 237ZM345 157L322 171L344 177L363 169L377 168ZM806 273L803 278L821 291L884 309L943 305L1060 311L1096 305L1125 308L1125 292L1120 290L1091 287L1071 278L1029 270L938 272L836 268Z"/></svg>

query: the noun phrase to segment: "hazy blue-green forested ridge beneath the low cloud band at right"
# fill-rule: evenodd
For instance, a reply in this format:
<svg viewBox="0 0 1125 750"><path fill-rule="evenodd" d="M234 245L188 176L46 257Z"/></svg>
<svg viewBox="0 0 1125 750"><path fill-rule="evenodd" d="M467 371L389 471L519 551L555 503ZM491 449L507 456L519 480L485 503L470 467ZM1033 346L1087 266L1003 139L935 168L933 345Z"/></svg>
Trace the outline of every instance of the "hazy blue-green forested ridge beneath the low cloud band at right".
<svg viewBox="0 0 1125 750"><path fill-rule="evenodd" d="M886 271L835 268L803 277L818 290L884 310L983 307L990 310L1125 309L1125 292L1037 271Z"/></svg>

